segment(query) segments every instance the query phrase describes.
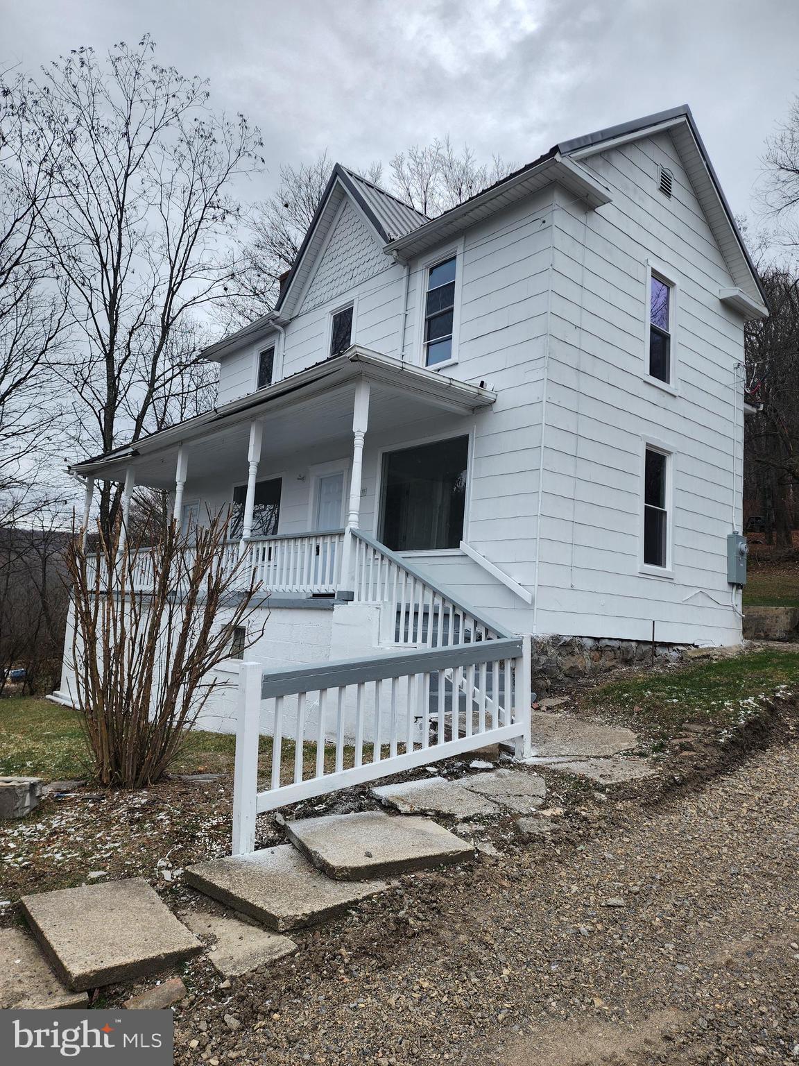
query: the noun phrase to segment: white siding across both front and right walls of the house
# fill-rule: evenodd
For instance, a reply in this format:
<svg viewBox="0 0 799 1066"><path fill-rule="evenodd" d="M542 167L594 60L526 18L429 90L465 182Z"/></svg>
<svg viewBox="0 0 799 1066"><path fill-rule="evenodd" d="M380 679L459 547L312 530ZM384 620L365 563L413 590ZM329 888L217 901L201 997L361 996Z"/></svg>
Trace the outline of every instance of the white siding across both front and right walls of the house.
<svg viewBox="0 0 799 1066"><path fill-rule="evenodd" d="M670 199L658 164L673 175ZM392 433L373 424L361 527L379 536L382 450L470 433L464 539L535 592L535 608L460 552L414 556L431 578L517 631L648 640L654 620L659 640L734 643L725 537L740 528L743 323L718 298L730 273L668 133L582 165L613 191L612 204L586 212L550 189L464 235L457 362L443 373L485 382L499 399L468 419L424 418ZM421 364L429 258L406 272L345 206L286 327L281 376L327 356L329 314L350 298L355 342ZM646 374L650 260L679 282L676 395ZM223 360L222 402L252 388L263 346ZM673 452L673 580L639 572L646 438ZM283 475L281 532L308 528L308 468L350 449L343 437L288 465L265 454L259 477ZM223 504L231 486L196 489Z"/></svg>

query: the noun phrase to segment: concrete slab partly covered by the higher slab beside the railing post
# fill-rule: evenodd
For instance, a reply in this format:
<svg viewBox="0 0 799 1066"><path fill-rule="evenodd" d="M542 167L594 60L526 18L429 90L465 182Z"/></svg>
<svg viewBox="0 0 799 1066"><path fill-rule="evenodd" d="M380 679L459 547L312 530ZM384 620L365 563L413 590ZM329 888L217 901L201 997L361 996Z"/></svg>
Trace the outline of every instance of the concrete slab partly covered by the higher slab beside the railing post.
<svg viewBox="0 0 799 1066"><path fill-rule="evenodd" d="M278 932L333 918L386 888L381 882L329 881L291 844L198 862L183 876L192 888Z"/></svg>

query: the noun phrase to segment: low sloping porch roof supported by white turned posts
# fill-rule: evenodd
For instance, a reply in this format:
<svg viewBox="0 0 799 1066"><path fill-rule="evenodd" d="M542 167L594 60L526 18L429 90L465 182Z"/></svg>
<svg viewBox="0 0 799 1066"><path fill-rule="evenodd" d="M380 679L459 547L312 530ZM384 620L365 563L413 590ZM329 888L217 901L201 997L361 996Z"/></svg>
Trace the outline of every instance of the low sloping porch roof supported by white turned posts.
<svg viewBox="0 0 799 1066"><path fill-rule="evenodd" d="M178 448L189 446L207 473L224 468L226 459L246 454L249 425L263 423L263 452L292 454L297 450L352 440L355 386L372 385L370 423L381 429L406 424L433 411L469 415L488 407L496 393L480 385L446 377L357 345L258 392L215 407L195 418L142 437L135 443L72 464L70 472L101 481L123 481L135 467L136 484L174 485ZM196 469L196 466L195 466Z"/></svg>

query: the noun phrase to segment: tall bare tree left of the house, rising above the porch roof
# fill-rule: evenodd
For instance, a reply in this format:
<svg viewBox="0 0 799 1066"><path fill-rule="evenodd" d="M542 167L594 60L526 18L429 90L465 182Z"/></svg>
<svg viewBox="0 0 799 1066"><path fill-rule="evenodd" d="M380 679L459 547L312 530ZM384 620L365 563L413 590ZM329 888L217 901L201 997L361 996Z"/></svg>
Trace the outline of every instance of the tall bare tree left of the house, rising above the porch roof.
<svg viewBox="0 0 799 1066"><path fill-rule="evenodd" d="M153 59L145 36L104 60L80 48L25 85L5 86L27 163L59 145L42 210L47 248L68 285L76 353L62 368L84 447L135 441L174 397L179 323L226 296L241 211L232 180L259 167L260 136L218 116L199 78ZM118 487L103 483L108 532Z"/></svg>

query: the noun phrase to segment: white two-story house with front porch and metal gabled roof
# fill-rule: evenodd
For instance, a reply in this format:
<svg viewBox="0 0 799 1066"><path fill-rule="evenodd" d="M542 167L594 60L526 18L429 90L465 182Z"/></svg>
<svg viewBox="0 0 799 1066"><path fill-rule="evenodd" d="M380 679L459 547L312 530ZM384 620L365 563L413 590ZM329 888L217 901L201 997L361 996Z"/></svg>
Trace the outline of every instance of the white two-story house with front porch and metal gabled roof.
<svg viewBox="0 0 799 1066"><path fill-rule="evenodd" d="M337 165L275 310L206 350L214 409L72 470L185 528L233 506L267 667L492 626L736 644L766 313L686 107L434 220Z"/></svg>

